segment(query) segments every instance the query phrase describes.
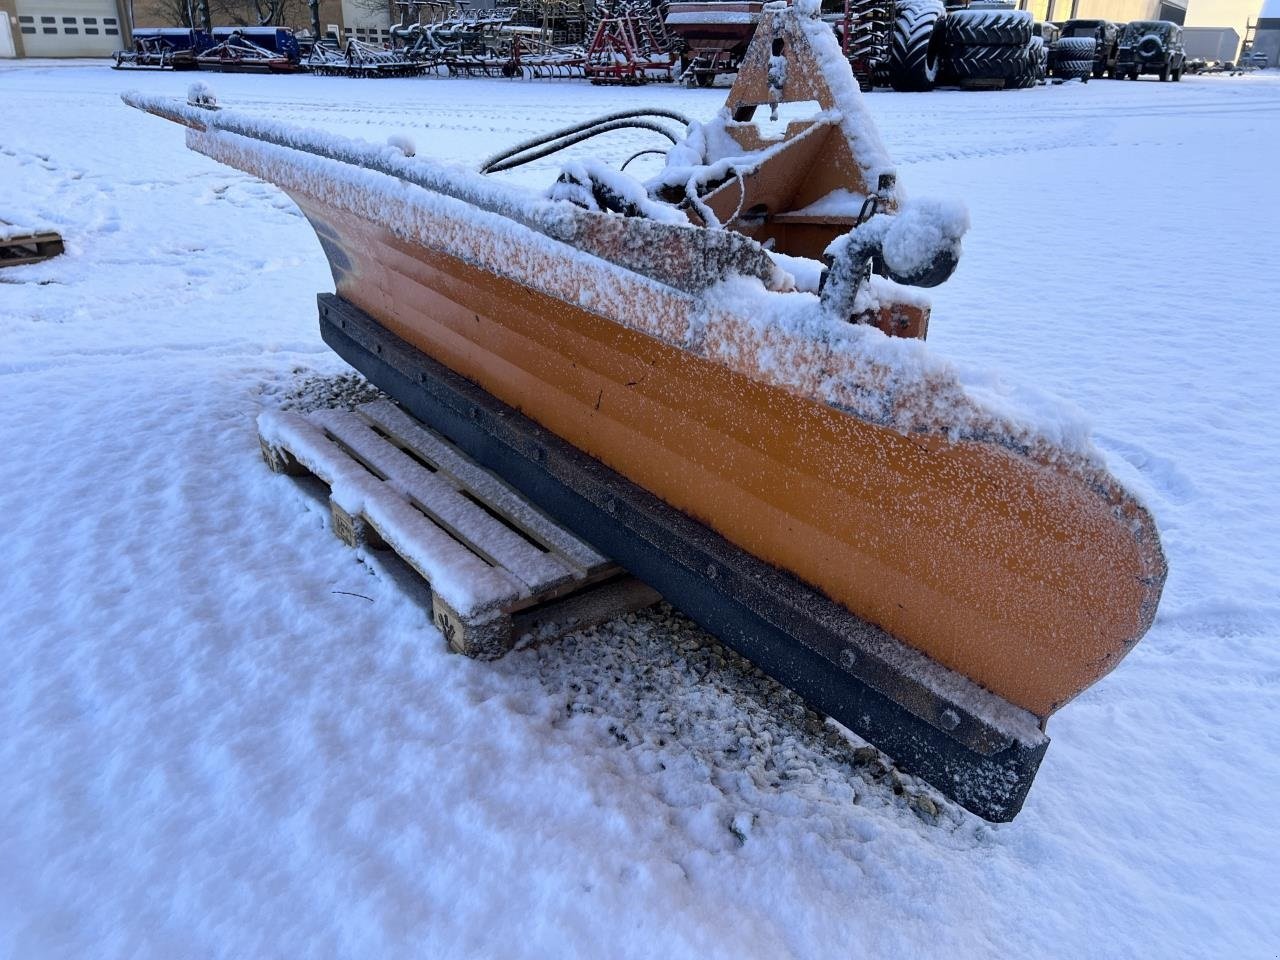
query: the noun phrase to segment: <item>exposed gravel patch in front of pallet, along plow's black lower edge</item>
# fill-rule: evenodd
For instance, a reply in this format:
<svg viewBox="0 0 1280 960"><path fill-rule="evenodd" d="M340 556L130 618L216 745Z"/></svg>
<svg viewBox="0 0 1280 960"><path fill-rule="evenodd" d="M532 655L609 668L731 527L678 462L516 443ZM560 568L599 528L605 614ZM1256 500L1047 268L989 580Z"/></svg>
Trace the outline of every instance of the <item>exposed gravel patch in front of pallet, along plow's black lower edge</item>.
<svg viewBox="0 0 1280 960"><path fill-rule="evenodd" d="M709 790L755 822L797 796L896 806L928 823L964 814L879 750L809 709L792 690L662 603L512 654L503 669L538 678L588 718L602 748L660 799L663 772L705 771ZM612 739L612 744L611 744ZM739 836L736 814L724 828Z"/></svg>

